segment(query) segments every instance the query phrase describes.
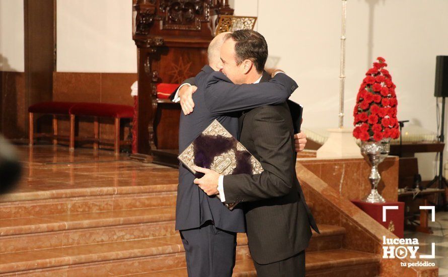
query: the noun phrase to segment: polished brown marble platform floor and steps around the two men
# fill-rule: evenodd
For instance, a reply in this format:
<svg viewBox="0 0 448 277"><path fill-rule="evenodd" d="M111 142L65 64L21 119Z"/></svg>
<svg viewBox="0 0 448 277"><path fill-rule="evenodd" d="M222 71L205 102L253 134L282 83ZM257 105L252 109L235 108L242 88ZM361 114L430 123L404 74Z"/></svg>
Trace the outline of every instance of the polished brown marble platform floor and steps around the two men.
<svg viewBox="0 0 448 277"><path fill-rule="evenodd" d="M22 178L0 196L0 275L187 275L174 228L177 169L104 150L17 150ZM319 229L307 250L307 270L345 276L358 268L377 275L380 255L341 248L344 228ZM234 273L255 275L244 234Z"/></svg>

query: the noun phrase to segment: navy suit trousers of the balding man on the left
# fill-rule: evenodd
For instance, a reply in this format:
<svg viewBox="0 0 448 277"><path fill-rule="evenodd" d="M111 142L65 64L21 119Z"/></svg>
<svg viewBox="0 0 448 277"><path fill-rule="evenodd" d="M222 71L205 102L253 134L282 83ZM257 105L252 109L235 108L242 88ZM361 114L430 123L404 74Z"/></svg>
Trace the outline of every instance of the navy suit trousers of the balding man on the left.
<svg viewBox="0 0 448 277"><path fill-rule="evenodd" d="M189 277L231 277L235 266L237 233L220 230L211 221L180 230Z"/></svg>

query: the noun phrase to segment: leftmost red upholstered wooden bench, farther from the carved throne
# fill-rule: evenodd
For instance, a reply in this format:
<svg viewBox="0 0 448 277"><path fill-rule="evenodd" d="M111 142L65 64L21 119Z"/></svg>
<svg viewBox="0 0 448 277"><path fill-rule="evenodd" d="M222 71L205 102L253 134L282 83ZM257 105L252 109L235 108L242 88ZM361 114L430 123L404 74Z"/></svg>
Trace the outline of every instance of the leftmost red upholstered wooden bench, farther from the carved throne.
<svg viewBox="0 0 448 277"><path fill-rule="evenodd" d="M29 144L34 145L35 137L52 137L53 145L57 144L57 139L60 137L57 132L57 116L68 115L70 108L76 103L73 102L41 102L28 107L28 120L29 120ZM34 114L51 114L53 115L53 134L48 135L45 133L34 133Z"/></svg>

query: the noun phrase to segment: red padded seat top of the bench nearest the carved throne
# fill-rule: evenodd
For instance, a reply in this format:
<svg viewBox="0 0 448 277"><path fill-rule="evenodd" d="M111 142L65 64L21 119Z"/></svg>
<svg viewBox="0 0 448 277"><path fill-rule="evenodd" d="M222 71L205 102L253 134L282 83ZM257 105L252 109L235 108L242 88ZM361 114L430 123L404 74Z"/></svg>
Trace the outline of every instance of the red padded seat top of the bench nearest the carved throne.
<svg viewBox="0 0 448 277"><path fill-rule="evenodd" d="M132 118L134 115L134 108L132 106L118 104L82 102L73 105L70 109L70 114Z"/></svg>

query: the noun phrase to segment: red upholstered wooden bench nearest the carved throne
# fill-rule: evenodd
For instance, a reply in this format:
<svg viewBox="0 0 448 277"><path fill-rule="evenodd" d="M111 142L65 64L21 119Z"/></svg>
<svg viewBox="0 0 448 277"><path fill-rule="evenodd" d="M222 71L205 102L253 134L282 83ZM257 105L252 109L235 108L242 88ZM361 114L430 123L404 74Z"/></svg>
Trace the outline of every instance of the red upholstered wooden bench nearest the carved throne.
<svg viewBox="0 0 448 277"><path fill-rule="evenodd" d="M70 150L74 150L74 120L76 116L93 116L94 117L94 149L98 149L100 143L100 128L98 117L115 118L115 137L114 150L115 154L120 153L120 119L132 118L134 108L127 105L106 104L106 103L77 103L70 108ZM128 143L128 142L125 142Z"/></svg>

